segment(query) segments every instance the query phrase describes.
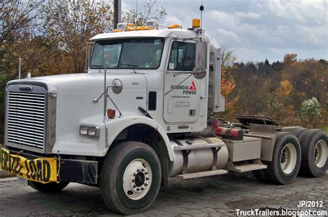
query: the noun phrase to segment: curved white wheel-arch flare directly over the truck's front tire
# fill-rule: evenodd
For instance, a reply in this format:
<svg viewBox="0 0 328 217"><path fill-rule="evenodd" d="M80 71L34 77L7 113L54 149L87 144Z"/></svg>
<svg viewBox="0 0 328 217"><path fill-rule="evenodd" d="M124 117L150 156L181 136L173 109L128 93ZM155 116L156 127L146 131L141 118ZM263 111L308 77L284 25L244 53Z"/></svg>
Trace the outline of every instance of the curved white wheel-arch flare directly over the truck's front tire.
<svg viewBox="0 0 328 217"><path fill-rule="evenodd" d="M116 118L115 120L110 120L107 122L107 129L108 129L108 144L106 153L113 142L115 138L120 134L124 129L127 127L134 125L134 124L145 124L148 126L152 126L163 138L167 153L169 154L170 161L174 161L174 153L173 153L173 147L171 146L171 142L169 138L167 137L166 132L164 131L163 127L160 126L157 122L150 119L149 117L143 117L139 115L129 116L129 117L121 117ZM115 129L115 131L112 131L111 129Z"/></svg>

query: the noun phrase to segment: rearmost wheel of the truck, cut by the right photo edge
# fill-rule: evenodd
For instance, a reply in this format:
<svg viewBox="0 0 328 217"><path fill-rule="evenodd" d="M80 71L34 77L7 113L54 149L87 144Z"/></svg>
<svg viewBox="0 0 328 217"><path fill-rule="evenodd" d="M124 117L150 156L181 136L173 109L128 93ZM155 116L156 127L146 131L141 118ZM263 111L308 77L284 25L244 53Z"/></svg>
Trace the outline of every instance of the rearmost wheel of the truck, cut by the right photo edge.
<svg viewBox="0 0 328 217"><path fill-rule="evenodd" d="M325 176L328 167L327 161L327 133L320 130L311 130L302 138L302 162L300 171L309 177Z"/></svg>

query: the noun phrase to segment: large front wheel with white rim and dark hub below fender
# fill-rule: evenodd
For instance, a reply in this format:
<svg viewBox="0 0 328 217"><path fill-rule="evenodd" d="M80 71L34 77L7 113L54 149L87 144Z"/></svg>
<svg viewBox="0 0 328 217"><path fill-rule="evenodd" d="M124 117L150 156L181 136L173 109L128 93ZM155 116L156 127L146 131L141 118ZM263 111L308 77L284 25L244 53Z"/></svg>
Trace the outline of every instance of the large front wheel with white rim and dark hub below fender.
<svg viewBox="0 0 328 217"><path fill-rule="evenodd" d="M123 142L104 160L100 192L104 203L120 214L138 214L154 203L161 187L161 163L142 142Z"/></svg>

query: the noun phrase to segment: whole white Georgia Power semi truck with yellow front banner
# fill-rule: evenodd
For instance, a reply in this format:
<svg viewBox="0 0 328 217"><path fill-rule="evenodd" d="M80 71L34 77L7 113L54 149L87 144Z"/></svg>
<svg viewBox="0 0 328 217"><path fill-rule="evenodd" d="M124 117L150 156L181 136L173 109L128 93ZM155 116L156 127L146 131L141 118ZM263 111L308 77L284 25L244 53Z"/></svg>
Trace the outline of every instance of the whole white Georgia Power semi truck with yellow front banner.
<svg viewBox="0 0 328 217"><path fill-rule="evenodd" d="M6 86L2 168L34 189L93 185L113 211L137 214L174 177L253 171L284 185L299 172L325 176L323 131L248 116L208 128L208 112L224 111L221 48L197 20L188 30L120 23L91 40L87 73Z"/></svg>

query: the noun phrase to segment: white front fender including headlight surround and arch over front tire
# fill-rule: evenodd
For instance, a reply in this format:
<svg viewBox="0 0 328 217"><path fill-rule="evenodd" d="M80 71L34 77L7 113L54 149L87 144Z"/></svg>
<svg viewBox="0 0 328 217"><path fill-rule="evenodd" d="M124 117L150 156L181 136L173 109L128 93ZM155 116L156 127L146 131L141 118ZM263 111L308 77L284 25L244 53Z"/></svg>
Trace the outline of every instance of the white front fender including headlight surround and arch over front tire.
<svg viewBox="0 0 328 217"><path fill-rule="evenodd" d="M105 144L105 125L103 122L103 117L96 115L80 120L80 122L76 124L74 131L68 131L67 133L58 136L53 147L53 153L103 157L106 155L113 141L124 129L134 124L145 124L158 131L165 142L170 160L174 161L173 147L171 147L170 140L167 137L165 130L156 121L150 119L149 117L136 115L135 113L125 113L125 115L129 116L117 117L115 119L108 120L107 145ZM81 125L99 126L100 138L94 139L78 135L79 126Z"/></svg>

